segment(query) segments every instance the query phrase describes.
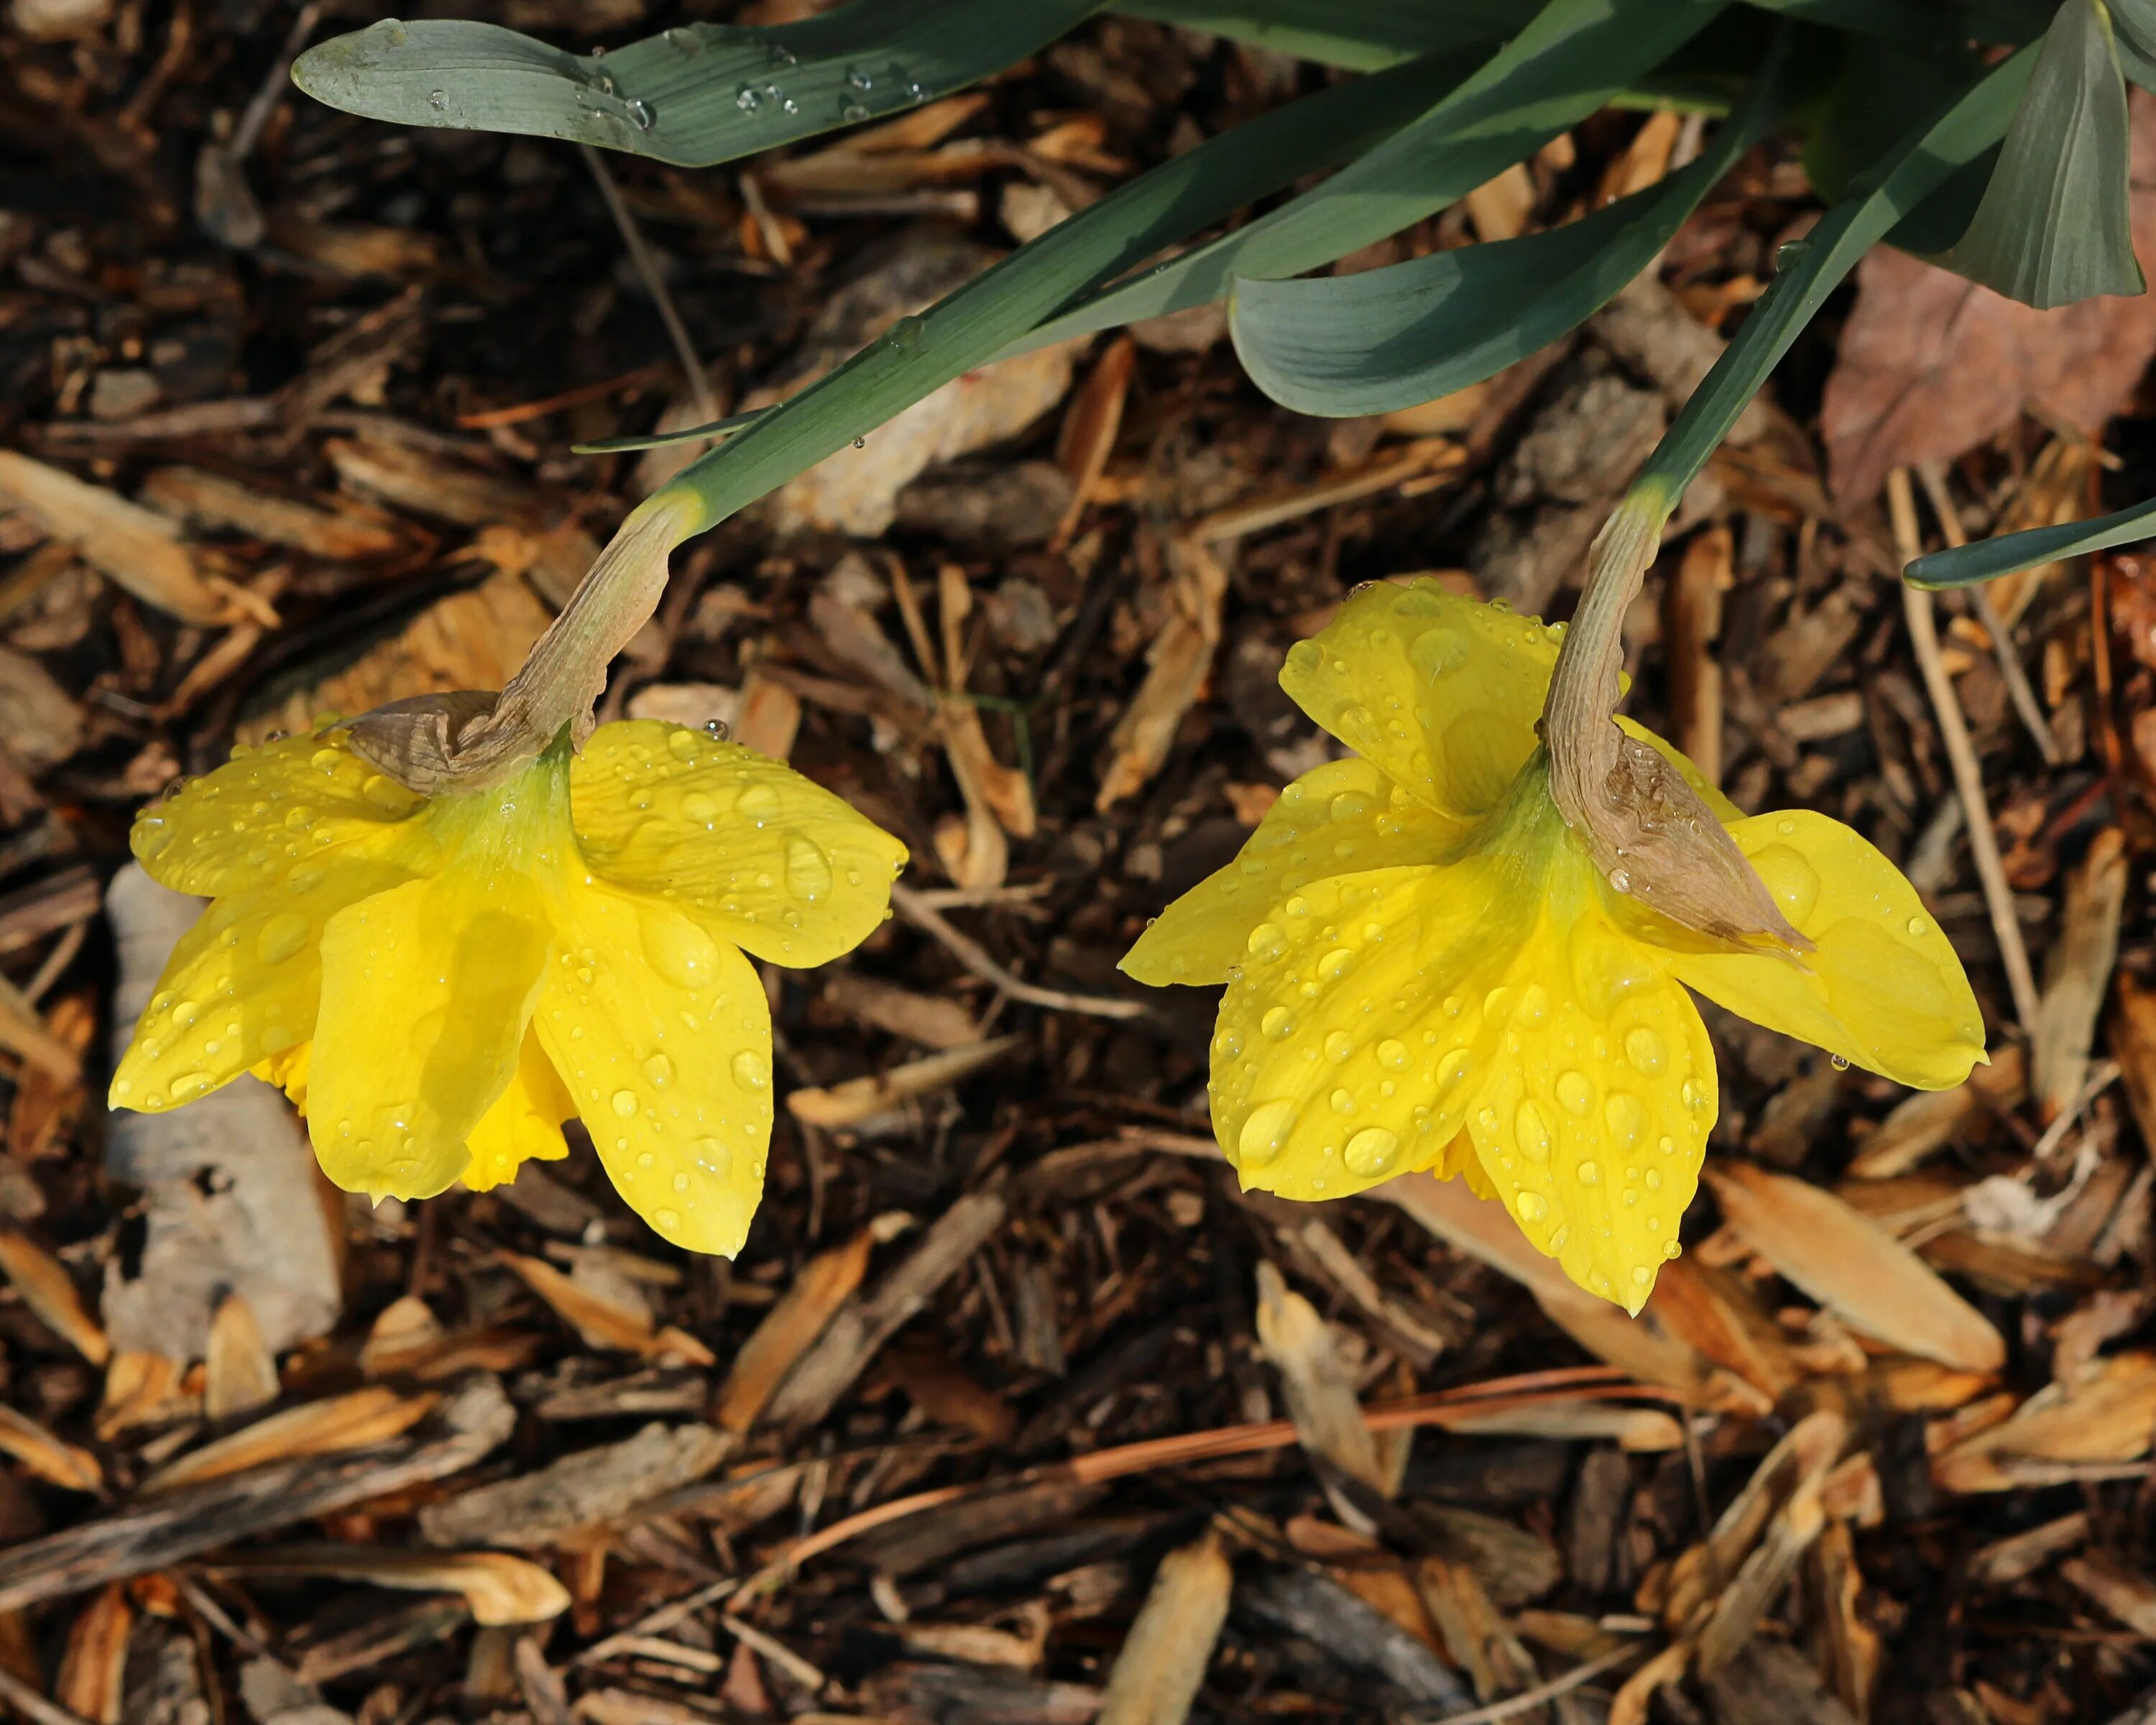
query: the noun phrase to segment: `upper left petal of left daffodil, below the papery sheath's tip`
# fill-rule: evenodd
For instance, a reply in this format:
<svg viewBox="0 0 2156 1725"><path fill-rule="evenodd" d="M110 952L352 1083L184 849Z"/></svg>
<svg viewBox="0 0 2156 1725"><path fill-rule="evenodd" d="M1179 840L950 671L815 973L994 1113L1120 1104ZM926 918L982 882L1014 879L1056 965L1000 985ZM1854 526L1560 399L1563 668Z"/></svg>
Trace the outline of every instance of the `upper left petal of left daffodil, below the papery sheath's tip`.
<svg viewBox="0 0 2156 1725"><path fill-rule="evenodd" d="M293 871L304 878L345 850L392 839L407 867L431 867L431 843L405 830L420 806L334 735L285 737L235 748L231 761L144 809L129 843L149 878L175 893L285 891Z"/></svg>

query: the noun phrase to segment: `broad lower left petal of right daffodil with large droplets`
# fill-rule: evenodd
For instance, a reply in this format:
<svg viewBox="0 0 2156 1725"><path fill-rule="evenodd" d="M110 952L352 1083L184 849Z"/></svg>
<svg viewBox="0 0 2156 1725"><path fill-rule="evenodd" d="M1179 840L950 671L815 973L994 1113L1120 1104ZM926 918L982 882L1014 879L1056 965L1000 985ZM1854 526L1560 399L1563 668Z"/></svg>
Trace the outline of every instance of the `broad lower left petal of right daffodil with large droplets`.
<svg viewBox="0 0 2156 1725"><path fill-rule="evenodd" d="M1533 919L1520 858L1302 888L1248 936L1212 1046L1212 1117L1244 1186L1360 1192L1436 1167L1490 1059L1483 1005Z"/></svg>

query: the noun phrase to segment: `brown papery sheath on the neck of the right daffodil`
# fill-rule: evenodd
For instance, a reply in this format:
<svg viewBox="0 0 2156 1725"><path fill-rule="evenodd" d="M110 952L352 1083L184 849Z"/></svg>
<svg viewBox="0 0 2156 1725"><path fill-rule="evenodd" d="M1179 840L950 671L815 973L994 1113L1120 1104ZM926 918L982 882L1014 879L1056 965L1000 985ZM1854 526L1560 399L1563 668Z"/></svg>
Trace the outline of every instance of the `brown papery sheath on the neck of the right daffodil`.
<svg viewBox="0 0 2156 1725"><path fill-rule="evenodd" d="M1809 951L1684 772L1617 727L1623 617L1673 502L1667 485L1645 479L1595 539L1542 714L1550 798L1619 893L1733 947Z"/></svg>

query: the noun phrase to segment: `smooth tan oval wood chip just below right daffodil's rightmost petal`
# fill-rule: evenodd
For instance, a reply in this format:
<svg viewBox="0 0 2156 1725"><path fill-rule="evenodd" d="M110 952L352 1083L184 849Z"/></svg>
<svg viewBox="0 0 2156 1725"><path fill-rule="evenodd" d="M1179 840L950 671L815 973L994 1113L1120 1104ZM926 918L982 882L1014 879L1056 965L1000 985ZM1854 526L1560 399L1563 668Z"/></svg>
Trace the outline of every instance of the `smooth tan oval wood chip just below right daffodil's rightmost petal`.
<svg viewBox="0 0 2156 1725"><path fill-rule="evenodd" d="M1852 1328L1964 1371L1999 1371L2007 1346L1917 1253L1833 1192L1751 1162L1705 1171L1729 1227Z"/></svg>

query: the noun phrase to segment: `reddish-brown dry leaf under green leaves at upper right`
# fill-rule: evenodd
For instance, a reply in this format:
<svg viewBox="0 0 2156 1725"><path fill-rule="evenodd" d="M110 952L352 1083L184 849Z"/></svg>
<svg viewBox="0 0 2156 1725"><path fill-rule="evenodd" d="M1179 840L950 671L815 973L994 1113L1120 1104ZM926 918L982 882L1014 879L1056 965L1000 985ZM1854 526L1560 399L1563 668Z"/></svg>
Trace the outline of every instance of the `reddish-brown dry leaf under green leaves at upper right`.
<svg viewBox="0 0 2156 1725"><path fill-rule="evenodd" d="M2156 101L2132 93L2132 224L2156 263ZM1876 246L1826 380L1820 431L1835 496L1861 502L1893 468L1951 461L2037 401L2070 425L2115 414L2156 354L2156 295L2035 310Z"/></svg>

